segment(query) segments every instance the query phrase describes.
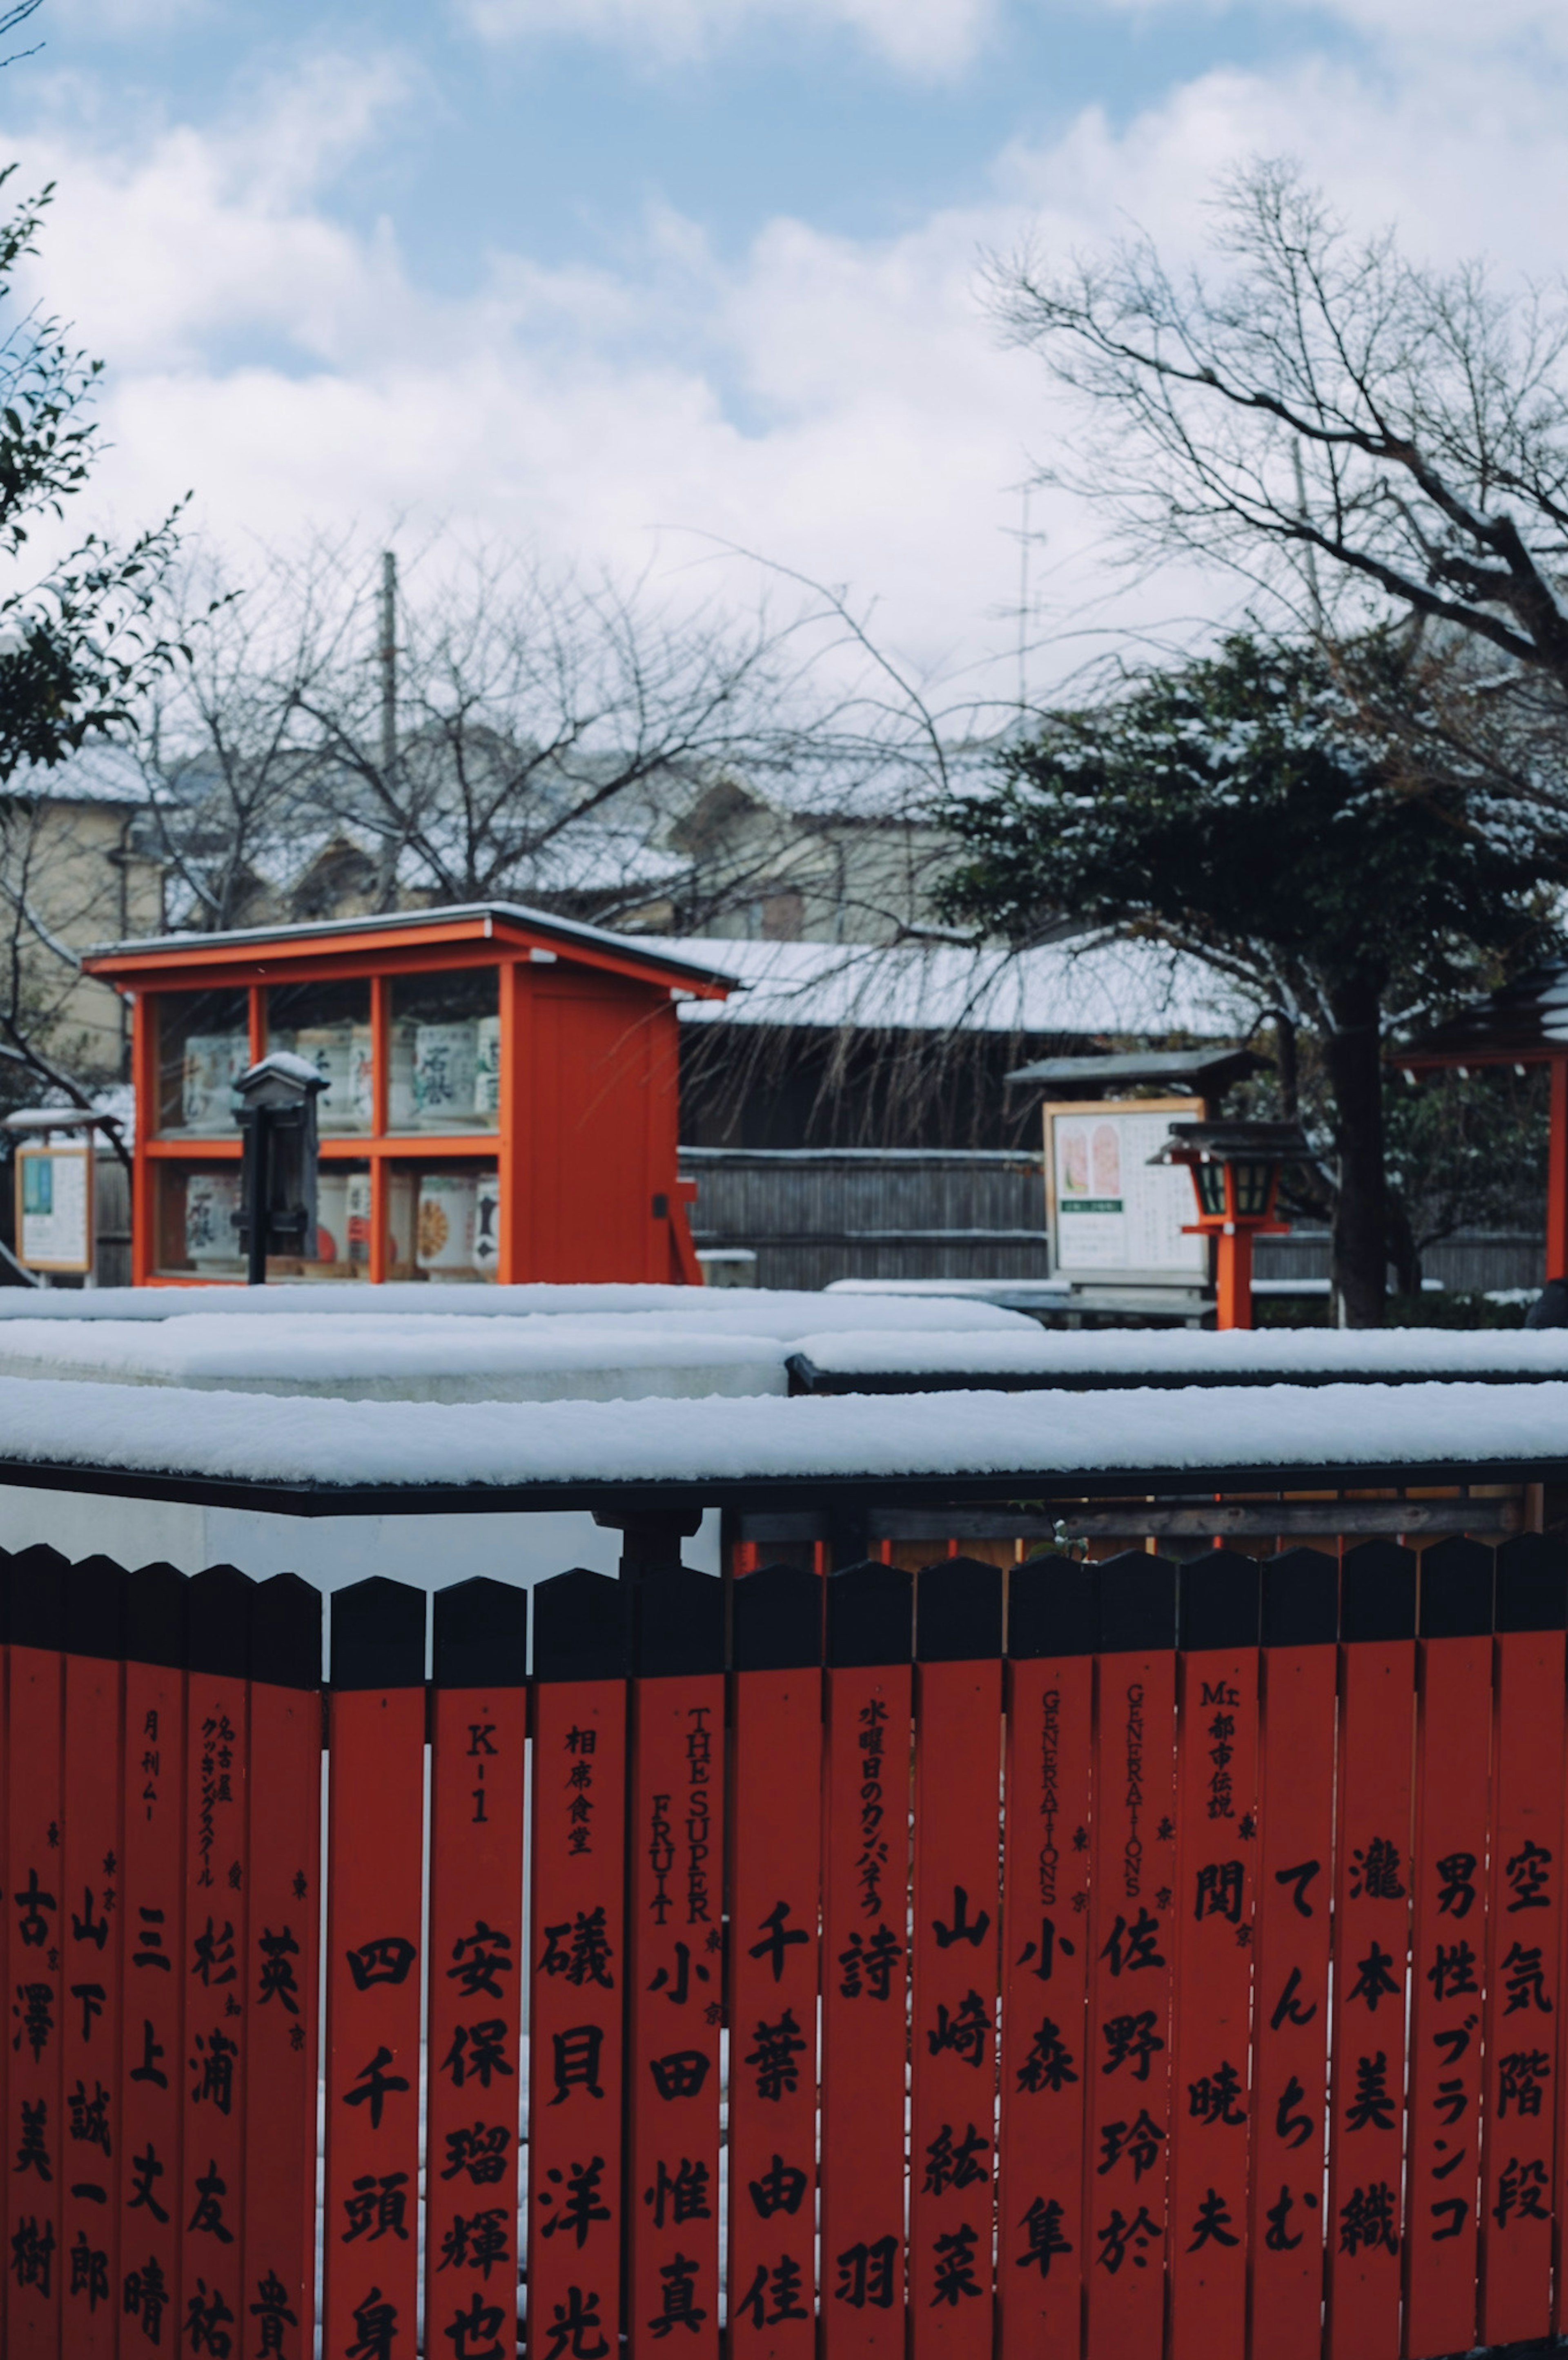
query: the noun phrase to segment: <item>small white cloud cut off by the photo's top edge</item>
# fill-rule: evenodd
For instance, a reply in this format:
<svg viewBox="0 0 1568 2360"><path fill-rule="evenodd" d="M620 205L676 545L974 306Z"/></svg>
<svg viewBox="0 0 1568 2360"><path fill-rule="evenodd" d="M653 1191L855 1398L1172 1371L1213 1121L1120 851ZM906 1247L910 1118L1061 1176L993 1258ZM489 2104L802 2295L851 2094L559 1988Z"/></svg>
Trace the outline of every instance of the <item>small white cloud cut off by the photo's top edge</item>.
<svg viewBox="0 0 1568 2360"><path fill-rule="evenodd" d="M568 35L655 61L712 57L757 26L846 31L905 73L946 76L964 66L995 0L462 0L469 24L490 40Z"/></svg>

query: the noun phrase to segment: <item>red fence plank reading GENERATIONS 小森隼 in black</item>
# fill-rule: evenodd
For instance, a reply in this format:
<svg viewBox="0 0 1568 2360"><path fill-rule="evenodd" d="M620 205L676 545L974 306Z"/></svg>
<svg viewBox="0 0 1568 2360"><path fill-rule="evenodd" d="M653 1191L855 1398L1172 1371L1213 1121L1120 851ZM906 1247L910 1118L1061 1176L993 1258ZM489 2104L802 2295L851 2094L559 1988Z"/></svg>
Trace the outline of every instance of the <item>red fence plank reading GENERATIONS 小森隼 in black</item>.
<svg viewBox="0 0 1568 2360"><path fill-rule="evenodd" d="M1000 2360L1078 2360L1089 2001L1092 1565L1007 1584L1002 1850Z"/></svg>

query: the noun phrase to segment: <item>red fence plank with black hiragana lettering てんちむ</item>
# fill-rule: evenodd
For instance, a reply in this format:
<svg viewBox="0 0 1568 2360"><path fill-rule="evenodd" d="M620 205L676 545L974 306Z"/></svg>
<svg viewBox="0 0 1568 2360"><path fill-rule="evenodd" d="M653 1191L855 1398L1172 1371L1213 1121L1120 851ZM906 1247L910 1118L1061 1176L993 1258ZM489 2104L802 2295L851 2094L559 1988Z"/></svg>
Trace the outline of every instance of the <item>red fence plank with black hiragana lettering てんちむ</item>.
<svg viewBox="0 0 1568 2360"><path fill-rule="evenodd" d="M1327 1966L1335 1890L1339 1565L1264 1562L1261 1871L1254 1938L1252 2318L1257 2360L1323 2351Z"/></svg>

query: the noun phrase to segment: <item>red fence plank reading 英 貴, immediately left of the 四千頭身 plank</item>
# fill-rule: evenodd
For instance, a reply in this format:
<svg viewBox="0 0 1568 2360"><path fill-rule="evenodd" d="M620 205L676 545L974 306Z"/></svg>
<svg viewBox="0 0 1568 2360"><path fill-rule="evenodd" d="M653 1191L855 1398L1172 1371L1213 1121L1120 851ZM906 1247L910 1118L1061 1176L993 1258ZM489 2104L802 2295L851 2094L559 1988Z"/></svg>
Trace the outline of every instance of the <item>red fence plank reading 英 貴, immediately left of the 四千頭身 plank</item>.
<svg viewBox="0 0 1568 2360"><path fill-rule="evenodd" d="M321 2065L321 1593L274 1574L250 1624L250 2060L245 2339L295 2360L316 2339ZM238 2346L236 2346L238 2348Z"/></svg>

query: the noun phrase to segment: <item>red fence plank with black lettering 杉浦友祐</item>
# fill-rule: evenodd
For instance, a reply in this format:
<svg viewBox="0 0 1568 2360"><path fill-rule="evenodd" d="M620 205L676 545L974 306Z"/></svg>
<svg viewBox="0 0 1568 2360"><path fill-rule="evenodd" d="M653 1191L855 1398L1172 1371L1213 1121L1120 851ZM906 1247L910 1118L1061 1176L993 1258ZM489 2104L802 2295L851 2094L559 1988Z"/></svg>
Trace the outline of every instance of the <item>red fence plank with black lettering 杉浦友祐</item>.
<svg viewBox="0 0 1568 2360"><path fill-rule="evenodd" d="M255 1584L210 1565L186 1600L186 1947L179 2320L191 2341L236 2336L245 2289L250 1602ZM200 2348L200 2343L198 2343Z"/></svg>

